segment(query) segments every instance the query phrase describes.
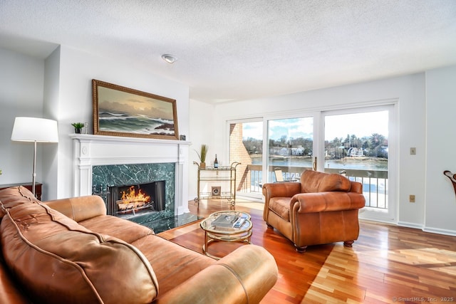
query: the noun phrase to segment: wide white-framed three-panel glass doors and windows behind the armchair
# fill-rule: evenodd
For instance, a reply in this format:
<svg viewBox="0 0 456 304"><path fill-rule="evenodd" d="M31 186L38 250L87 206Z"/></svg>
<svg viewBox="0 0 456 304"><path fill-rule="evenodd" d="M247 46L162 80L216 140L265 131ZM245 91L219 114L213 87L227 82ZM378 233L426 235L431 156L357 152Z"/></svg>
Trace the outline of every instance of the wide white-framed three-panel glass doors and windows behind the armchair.
<svg viewBox="0 0 456 304"><path fill-rule="evenodd" d="M229 122L238 195L261 200L262 184L297 182L306 169L343 174L363 184L365 218L393 221L394 122L393 104Z"/></svg>

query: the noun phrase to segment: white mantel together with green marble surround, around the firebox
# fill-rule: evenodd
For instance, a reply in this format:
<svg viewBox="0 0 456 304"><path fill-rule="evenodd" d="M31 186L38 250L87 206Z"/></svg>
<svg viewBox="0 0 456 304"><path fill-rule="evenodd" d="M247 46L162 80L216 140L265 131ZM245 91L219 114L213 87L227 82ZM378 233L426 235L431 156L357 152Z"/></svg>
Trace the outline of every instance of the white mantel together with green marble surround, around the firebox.
<svg viewBox="0 0 456 304"><path fill-rule="evenodd" d="M190 142L87 134L70 137L74 196L100 194L107 199L112 196L108 195L110 187L165 181L164 209L153 213L173 216L189 212ZM105 203L109 208L107 200Z"/></svg>

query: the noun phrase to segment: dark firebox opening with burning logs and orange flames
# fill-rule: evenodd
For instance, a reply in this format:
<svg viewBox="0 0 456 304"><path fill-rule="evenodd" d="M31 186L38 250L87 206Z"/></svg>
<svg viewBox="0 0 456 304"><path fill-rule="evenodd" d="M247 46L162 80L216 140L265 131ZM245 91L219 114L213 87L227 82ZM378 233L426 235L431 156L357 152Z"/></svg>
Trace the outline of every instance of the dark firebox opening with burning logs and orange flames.
<svg viewBox="0 0 456 304"><path fill-rule="evenodd" d="M165 209L165 181L109 187L108 214L143 214Z"/></svg>

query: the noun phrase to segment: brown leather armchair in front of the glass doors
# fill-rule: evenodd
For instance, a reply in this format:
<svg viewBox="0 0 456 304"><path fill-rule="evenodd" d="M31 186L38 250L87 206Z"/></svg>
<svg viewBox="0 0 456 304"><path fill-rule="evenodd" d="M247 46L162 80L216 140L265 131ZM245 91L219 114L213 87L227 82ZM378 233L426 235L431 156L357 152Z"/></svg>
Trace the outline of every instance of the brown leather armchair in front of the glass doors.
<svg viewBox="0 0 456 304"><path fill-rule="evenodd" d="M264 221L292 241L298 252L337 241L351 247L358 239L358 209L366 204L359 182L306 170L301 182L264 184L263 194Z"/></svg>

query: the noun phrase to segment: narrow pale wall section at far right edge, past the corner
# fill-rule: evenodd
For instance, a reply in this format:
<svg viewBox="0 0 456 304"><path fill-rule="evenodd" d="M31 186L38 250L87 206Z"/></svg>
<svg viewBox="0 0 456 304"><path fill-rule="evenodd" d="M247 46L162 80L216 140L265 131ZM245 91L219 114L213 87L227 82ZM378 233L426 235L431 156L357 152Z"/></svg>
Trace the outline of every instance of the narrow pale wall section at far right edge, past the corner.
<svg viewBox="0 0 456 304"><path fill-rule="evenodd" d="M456 65L426 72L425 230L456 231L456 196L445 170L456 173Z"/></svg>

